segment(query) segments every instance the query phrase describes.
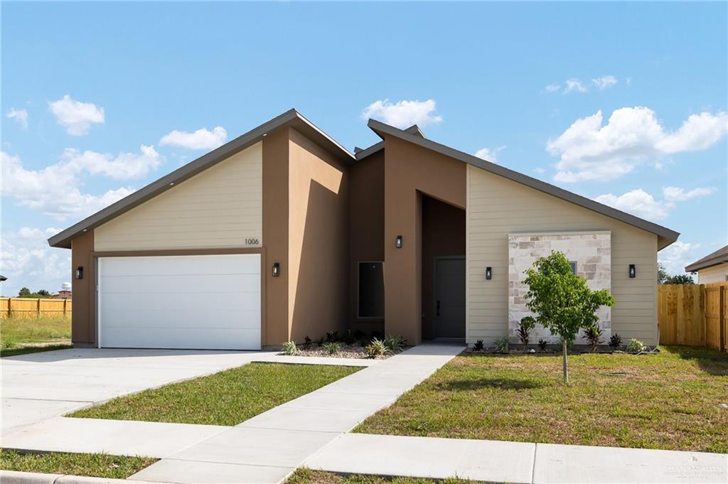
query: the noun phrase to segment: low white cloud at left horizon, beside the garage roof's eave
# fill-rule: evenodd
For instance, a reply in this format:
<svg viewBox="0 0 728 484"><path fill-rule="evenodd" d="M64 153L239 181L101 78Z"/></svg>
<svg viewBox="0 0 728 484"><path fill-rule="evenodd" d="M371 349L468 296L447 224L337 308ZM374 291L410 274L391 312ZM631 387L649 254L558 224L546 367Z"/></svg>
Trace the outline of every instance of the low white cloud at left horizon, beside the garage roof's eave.
<svg viewBox="0 0 728 484"><path fill-rule="evenodd" d="M47 242L48 237L59 231L21 227L16 232L2 234L0 274L7 277L1 285L2 295L17 295L23 286L58 292L63 282L70 279L70 251L54 249Z"/></svg>

